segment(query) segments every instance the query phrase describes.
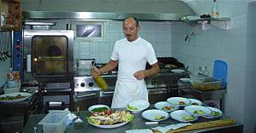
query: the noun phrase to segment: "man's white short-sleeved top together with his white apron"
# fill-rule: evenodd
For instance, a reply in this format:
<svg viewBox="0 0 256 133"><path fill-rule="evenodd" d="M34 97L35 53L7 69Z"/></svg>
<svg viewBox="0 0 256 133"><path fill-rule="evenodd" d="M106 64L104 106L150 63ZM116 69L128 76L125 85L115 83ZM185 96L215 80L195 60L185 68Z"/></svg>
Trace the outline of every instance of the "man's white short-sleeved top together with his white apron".
<svg viewBox="0 0 256 133"><path fill-rule="evenodd" d="M131 101L148 101L144 79L134 78L134 73L158 62L152 44L143 38L129 42L127 38L116 41L111 60L118 61L118 74L112 108L126 107Z"/></svg>

